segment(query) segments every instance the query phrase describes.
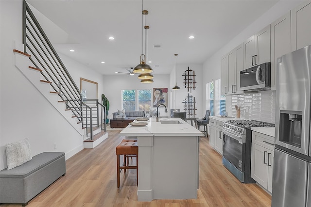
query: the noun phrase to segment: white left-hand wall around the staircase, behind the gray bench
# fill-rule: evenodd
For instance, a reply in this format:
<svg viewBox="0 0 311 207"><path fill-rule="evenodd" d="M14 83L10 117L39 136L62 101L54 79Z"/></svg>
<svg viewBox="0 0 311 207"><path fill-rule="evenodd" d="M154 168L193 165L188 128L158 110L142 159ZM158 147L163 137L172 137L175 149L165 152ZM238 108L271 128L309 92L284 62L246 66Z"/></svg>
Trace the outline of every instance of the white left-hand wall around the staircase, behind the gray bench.
<svg viewBox="0 0 311 207"><path fill-rule="evenodd" d="M24 138L30 141L32 156L59 151L68 159L83 149L83 137L14 66L13 49L23 51L22 0L0 1L0 30L0 170L6 168L5 144ZM100 74L61 58L78 87L80 77L97 81L101 95Z"/></svg>

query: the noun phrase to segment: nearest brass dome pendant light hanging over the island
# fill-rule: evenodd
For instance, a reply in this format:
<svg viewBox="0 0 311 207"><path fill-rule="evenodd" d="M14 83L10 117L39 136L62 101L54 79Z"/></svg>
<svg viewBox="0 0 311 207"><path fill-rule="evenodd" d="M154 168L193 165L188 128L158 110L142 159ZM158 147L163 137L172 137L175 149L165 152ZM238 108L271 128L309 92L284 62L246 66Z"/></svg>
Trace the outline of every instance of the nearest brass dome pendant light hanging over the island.
<svg viewBox="0 0 311 207"><path fill-rule="evenodd" d="M143 9L143 0L142 0L142 9ZM142 30L142 54L140 55L140 64L138 64L133 72L134 73L152 73L153 69L151 68L150 65L146 64L147 63L147 30L149 29L149 26L146 25L146 15L148 15L147 10L142 10L142 26L143 26L143 21L144 21L144 16L145 16L145 26L143 28L145 29L145 38L144 38L144 32ZM145 39L145 53L144 55L144 39Z"/></svg>

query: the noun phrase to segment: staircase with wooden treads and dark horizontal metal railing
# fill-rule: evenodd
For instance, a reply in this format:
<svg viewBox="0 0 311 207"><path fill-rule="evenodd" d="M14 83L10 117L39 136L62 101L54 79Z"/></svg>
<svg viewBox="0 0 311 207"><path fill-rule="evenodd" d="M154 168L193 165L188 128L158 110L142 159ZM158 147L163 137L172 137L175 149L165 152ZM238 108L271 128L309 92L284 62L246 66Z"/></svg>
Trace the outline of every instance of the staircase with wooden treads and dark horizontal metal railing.
<svg viewBox="0 0 311 207"><path fill-rule="evenodd" d="M80 90L25 0L23 48L13 50L16 68L84 137L84 147L93 148L106 139L106 124L99 121L106 118L104 105L98 100L92 106L82 101Z"/></svg>

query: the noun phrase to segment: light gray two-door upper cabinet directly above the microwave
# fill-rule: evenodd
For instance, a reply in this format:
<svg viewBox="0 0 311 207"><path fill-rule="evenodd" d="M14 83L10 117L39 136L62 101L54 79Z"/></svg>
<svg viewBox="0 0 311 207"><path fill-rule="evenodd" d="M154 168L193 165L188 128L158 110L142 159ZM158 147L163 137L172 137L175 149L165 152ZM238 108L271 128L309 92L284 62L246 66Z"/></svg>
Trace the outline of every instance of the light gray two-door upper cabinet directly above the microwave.
<svg viewBox="0 0 311 207"><path fill-rule="evenodd" d="M270 25L243 43L244 69L270 62Z"/></svg>

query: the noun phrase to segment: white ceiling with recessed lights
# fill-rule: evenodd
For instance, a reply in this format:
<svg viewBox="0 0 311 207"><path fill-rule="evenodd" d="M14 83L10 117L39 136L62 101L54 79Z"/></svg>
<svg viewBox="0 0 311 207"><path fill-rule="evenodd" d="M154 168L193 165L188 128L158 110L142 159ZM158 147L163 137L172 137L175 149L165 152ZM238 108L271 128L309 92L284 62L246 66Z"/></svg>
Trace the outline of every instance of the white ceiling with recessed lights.
<svg viewBox="0 0 311 207"><path fill-rule="evenodd" d="M27 0L57 52L102 74L139 64L141 0ZM203 64L277 0L144 0L147 60L154 74L177 64ZM189 39L190 35L194 39ZM108 37L115 37L109 40ZM161 48L154 48L161 45ZM75 52L70 52L74 49ZM102 64L101 62L105 62ZM158 65L158 66L155 66Z"/></svg>

